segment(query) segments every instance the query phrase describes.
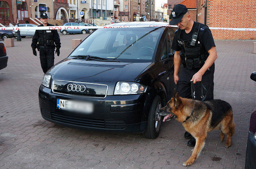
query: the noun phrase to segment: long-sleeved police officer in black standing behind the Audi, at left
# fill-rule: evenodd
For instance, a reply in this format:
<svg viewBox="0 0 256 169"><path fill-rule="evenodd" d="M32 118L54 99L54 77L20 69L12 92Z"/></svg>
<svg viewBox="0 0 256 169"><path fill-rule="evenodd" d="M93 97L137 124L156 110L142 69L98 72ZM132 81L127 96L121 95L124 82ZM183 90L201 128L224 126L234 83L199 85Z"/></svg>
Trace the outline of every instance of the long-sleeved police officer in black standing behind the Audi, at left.
<svg viewBox="0 0 256 169"><path fill-rule="evenodd" d="M40 21L42 26L54 26L48 23L47 13L43 12L40 15ZM38 44L37 44L38 42ZM41 67L43 72L46 73L54 65L54 49L56 45L57 56L60 54L60 37L57 30L36 30L32 39L33 54L37 56L36 48L39 51Z"/></svg>

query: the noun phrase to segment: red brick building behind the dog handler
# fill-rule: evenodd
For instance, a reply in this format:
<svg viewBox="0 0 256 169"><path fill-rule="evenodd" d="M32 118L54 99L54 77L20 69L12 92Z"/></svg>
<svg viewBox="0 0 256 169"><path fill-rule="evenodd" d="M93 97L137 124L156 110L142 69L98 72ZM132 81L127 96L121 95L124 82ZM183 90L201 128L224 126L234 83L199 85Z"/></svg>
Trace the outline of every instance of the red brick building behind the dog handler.
<svg viewBox="0 0 256 169"><path fill-rule="evenodd" d="M184 0L179 4L187 6L194 21L209 27L256 28L256 0ZM255 31L212 30L212 34L214 39L256 40Z"/></svg>

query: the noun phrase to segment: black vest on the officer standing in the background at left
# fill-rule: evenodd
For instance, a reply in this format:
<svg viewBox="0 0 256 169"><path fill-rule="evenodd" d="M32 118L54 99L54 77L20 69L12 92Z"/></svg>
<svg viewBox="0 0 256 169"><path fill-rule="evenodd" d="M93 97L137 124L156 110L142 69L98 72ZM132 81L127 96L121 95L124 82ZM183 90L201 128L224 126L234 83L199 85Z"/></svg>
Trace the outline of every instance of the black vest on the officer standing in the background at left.
<svg viewBox="0 0 256 169"><path fill-rule="evenodd" d="M53 30L38 30L38 44L41 46L55 46L53 40Z"/></svg>

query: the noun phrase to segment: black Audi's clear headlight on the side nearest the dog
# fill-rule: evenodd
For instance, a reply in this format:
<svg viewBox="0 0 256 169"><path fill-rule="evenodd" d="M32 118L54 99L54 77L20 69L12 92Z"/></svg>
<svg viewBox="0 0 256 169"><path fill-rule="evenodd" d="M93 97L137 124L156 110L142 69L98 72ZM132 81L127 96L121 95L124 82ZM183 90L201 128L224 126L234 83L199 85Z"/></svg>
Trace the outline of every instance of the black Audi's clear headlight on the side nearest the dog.
<svg viewBox="0 0 256 169"><path fill-rule="evenodd" d="M128 81L118 81L114 95L130 95L130 94L141 94L146 92L147 87L145 85L128 82Z"/></svg>

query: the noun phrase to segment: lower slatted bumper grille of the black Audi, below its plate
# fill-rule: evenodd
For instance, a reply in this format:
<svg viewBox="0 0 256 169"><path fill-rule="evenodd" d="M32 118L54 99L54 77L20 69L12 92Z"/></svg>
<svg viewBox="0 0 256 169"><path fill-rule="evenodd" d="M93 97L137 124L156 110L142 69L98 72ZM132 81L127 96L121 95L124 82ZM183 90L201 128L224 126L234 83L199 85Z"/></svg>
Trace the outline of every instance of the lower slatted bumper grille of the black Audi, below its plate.
<svg viewBox="0 0 256 169"><path fill-rule="evenodd" d="M87 128L100 129L124 129L126 123L123 120L102 120L102 119L86 119L66 116L63 114L51 112L52 119L56 122L70 124L74 126L81 126Z"/></svg>

